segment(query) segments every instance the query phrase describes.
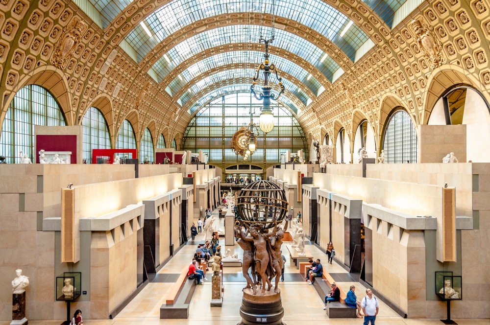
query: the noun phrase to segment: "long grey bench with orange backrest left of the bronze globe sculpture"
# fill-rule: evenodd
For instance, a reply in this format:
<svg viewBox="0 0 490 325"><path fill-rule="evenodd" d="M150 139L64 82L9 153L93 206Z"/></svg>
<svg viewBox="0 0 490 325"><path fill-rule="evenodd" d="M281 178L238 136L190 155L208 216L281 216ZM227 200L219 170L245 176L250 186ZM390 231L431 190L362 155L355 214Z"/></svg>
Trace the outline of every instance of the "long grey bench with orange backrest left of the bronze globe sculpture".
<svg viewBox="0 0 490 325"><path fill-rule="evenodd" d="M172 290L167 295L166 303L160 307L160 319L189 318L189 304L196 290L196 280L188 279L188 272L189 268L184 267L175 281Z"/></svg>

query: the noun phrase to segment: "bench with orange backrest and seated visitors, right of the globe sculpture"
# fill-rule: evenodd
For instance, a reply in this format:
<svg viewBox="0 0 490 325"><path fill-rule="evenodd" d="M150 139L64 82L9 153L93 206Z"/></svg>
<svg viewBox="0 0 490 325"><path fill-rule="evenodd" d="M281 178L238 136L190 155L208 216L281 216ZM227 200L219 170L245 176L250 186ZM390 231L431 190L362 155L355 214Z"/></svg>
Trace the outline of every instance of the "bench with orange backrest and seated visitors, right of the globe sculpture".
<svg viewBox="0 0 490 325"><path fill-rule="evenodd" d="M299 264L299 273L306 277L306 270L310 263ZM323 269L323 275L320 278L315 278L313 281L313 287L319 294L322 301L324 301L325 296L332 292L332 283L335 282L328 272ZM329 318L357 318L356 308L349 307L345 304L345 298L347 295L339 287L340 290L340 302L330 302L327 303L327 316Z"/></svg>

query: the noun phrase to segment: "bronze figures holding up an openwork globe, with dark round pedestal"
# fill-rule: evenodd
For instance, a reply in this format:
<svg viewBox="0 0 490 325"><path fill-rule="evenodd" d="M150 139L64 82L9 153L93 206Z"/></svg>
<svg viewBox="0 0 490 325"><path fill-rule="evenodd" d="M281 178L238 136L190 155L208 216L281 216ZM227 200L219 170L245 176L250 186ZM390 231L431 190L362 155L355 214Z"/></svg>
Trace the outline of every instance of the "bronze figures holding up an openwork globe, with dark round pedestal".
<svg viewBox="0 0 490 325"><path fill-rule="evenodd" d="M245 232L236 227L235 234L239 238L237 244L244 250L242 271L247 281L239 324L284 324L278 284L283 267L281 245L288 228L287 220L281 227L288 212L286 194L274 183L257 181L242 189L236 208L245 225ZM275 286L271 290L274 278Z"/></svg>

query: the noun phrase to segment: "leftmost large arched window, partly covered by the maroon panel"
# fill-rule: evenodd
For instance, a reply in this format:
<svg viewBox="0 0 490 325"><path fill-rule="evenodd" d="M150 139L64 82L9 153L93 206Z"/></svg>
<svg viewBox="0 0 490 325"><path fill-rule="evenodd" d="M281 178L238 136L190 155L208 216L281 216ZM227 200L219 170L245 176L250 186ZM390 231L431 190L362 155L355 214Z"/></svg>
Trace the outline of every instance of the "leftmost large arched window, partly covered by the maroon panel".
<svg viewBox="0 0 490 325"><path fill-rule="evenodd" d="M15 94L8 106L0 134L0 155L7 163L20 163L19 152L34 157L34 125L65 126L56 99L43 87L28 85Z"/></svg>

